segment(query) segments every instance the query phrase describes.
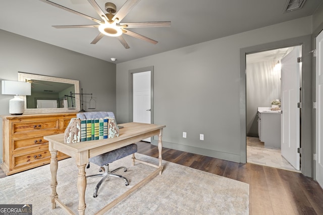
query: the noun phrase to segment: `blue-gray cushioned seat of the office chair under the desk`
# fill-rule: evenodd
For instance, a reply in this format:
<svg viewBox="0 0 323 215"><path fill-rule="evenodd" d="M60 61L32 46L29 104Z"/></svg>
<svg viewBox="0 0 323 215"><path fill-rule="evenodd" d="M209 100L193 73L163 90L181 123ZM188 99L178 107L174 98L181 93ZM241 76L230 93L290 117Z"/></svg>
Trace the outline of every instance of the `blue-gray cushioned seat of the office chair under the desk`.
<svg viewBox="0 0 323 215"><path fill-rule="evenodd" d="M89 159L89 162L94 163L98 166L104 166L106 164L110 164L118 159L131 155L137 152L137 145L131 144L129 146L122 147L120 149L116 149L111 152L104 153L102 155L97 155L93 158Z"/></svg>

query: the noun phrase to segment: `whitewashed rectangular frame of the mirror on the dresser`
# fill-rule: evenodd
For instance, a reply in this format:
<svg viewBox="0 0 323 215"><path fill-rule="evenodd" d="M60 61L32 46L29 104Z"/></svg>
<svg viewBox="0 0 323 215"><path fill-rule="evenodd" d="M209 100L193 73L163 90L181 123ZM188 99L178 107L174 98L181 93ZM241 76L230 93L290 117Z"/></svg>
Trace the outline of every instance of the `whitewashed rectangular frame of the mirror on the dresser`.
<svg viewBox="0 0 323 215"><path fill-rule="evenodd" d="M58 113L58 112L78 112L80 111L80 87L78 80L62 79L50 76L41 76L29 73L18 72L18 81L26 82L27 80L38 80L47 82L60 82L73 84L75 87L75 108L27 108L27 97L20 96L25 101L25 113Z"/></svg>

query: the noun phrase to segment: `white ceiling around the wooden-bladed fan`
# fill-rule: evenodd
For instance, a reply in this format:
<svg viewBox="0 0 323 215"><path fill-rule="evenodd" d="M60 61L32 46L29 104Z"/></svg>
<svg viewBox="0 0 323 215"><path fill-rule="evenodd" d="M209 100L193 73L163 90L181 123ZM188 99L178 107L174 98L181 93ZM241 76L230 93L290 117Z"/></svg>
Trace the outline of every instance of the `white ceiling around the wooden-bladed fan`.
<svg viewBox="0 0 323 215"><path fill-rule="evenodd" d="M87 0L51 0L100 20ZM96 0L104 11L108 0ZM117 10L126 0L111 0ZM91 25L95 22L38 0L0 1L0 29L89 56L124 62L248 30L310 16L322 0L307 0L301 10L283 13L286 0L141 0L122 22L171 21L171 27L133 28L158 41L151 44L124 35L125 49L114 37L104 36L95 45L96 28L56 29L52 25Z"/></svg>

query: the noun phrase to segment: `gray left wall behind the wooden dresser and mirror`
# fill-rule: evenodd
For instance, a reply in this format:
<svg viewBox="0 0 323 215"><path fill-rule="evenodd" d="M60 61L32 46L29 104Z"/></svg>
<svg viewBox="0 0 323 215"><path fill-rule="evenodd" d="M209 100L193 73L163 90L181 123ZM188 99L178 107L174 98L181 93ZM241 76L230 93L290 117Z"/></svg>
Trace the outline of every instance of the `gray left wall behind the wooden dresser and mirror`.
<svg viewBox="0 0 323 215"><path fill-rule="evenodd" d="M95 111L116 112L116 64L3 30L0 38L0 80L17 81L18 71L79 80L83 93L93 93ZM9 114L12 98L0 94L0 115ZM84 109L89 99L84 96ZM2 158L2 129L0 139Z"/></svg>

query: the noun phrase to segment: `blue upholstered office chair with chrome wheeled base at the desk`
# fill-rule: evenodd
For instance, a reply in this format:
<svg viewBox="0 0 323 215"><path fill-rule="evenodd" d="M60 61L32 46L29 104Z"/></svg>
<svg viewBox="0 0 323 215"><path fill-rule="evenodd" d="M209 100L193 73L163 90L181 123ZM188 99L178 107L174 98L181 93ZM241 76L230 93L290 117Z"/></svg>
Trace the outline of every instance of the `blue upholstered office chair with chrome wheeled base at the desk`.
<svg viewBox="0 0 323 215"><path fill-rule="evenodd" d="M96 119L96 118L99 119L99 118L104 118L104 117L115 118L115 114L113 112L103 112L103 111L102 112L83 112L83 113L76 114L76 117L80 118L80 119ZM94 198L97 197L97 191L98 191L99 187L101 186L102 182L106 178L109 178L109 176L123 178L126 181L126 186L129 185L129 181L127 178L125 178L121 175L113 174L120 169L124 169L124 172L127 172L127 168L126 167L119 167L115 170L110 171L109 164L111 164L112 162L114 162L118 159L124 158L128 155L131 155L131 154L134 154L136 152L137 152L137 145L131 144L129 146L125 146L120 149L116 149L114 151L104 153L102 155L97 155L97 156L89 159L90 163L100 166L99 172L103 172L102 174L95 174L95 175L86 176L86 178L102 176L101 180L95 186L95 189L93 192ZM87 165L87 168L89 168L89 166L90 166L90 164Z"/></svg>

